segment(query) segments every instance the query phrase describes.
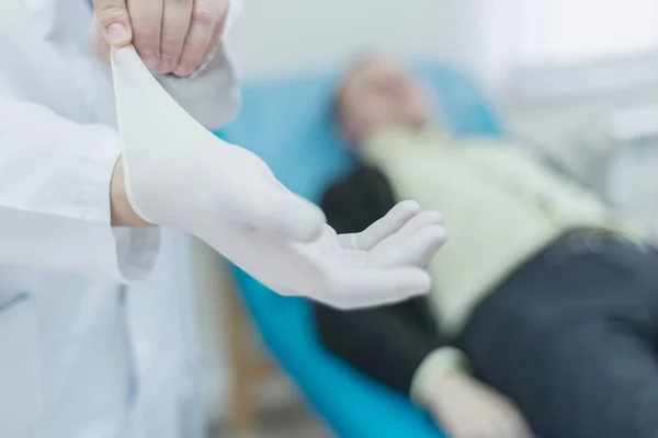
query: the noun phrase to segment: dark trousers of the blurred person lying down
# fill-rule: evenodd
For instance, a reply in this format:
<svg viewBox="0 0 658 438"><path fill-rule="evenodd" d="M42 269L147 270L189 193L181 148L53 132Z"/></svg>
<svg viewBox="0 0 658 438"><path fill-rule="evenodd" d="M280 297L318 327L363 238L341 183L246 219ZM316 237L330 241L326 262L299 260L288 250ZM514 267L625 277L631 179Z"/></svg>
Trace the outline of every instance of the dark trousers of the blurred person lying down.
<svg viewBox="0 0 658 438"><path fill-rule="evenodd" d="M456 345L544 438L658 438L658 253L570 234L474 312Z"/></svg>

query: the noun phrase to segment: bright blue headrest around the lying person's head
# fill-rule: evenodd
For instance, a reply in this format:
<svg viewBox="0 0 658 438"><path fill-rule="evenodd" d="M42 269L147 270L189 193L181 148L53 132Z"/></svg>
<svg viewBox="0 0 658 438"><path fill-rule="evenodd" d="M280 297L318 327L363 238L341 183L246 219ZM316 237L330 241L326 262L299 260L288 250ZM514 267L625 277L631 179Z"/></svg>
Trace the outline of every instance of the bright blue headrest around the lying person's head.
<svg viewBox="0 0 658 438"><path fill-rule="evenodd" d="M461 72L442 65L415 71L435 93L436 116L456 134L501 132L496 112ZM290 189L317 200L351 163L331 119L336 74L261 81L242 90L242 113L217 132L259 154Z"/></svg>

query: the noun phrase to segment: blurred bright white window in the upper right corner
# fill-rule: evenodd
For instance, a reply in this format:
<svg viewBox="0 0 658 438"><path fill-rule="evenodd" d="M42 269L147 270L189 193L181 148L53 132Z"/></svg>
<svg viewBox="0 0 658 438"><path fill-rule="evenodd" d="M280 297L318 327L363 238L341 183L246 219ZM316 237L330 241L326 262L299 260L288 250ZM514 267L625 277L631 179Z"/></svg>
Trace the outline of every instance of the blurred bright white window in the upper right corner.
<svg viewBox="0 0 658 438"><path fill-rule="evenodd" d="M658 81L658 0L514 0L518 93Z"/></svg>

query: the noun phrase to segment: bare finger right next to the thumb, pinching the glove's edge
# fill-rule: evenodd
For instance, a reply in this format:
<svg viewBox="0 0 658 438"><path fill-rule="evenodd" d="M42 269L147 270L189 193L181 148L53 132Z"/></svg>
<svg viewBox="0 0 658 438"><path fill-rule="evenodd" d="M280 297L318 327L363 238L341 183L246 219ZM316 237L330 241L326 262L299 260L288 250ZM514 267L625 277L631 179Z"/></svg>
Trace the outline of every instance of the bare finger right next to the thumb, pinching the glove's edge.
<svg viewBox="0 0 658 438"><path fill-rule="evenodd" d="M148 69L160 65L163 0L127 0L133 45Z"/></svg>

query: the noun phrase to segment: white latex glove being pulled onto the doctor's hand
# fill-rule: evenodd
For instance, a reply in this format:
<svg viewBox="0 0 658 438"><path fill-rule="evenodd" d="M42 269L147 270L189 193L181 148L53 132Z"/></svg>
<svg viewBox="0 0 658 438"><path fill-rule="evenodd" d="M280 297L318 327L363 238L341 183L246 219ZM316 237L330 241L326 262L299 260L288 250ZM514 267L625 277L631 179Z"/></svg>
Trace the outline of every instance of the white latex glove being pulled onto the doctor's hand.
<svg viewBox="0 0 658 438"><path fill-rule="evenodd" d="M145 220L191 232L276 292L329 306L374 306L429 289L419 266L444 240L436 214L418 215L406 203L339 239L260 158L186 114L132 46L113 49L112 64L126 191Z"/></svg>

